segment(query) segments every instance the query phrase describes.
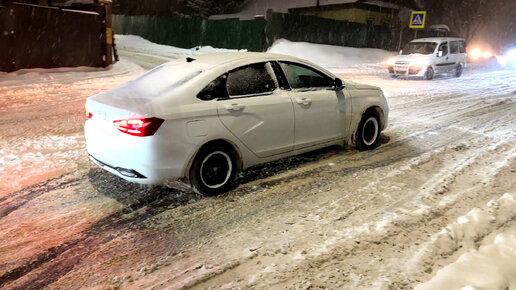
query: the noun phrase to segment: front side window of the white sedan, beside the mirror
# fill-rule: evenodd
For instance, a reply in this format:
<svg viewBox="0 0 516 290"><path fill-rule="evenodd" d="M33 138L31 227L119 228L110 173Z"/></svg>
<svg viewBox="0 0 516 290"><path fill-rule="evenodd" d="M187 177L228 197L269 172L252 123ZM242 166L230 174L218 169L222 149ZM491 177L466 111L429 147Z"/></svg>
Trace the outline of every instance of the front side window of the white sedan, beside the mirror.
<svg viewBox="0 0 516 290"><path fill-rule="evenodd" d="M307 66L280 62L281 68L293 89L330 88L333 79Z"/></svg>

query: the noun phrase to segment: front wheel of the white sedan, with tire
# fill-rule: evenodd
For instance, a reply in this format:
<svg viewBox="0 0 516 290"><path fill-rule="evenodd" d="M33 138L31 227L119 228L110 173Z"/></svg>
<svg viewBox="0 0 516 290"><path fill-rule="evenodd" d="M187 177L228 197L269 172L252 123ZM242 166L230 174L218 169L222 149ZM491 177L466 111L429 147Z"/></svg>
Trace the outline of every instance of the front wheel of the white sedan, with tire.
<svg viewBox="0 0 516 290"><path fill-rule="evenodd" d="M358 150L371 150L378 146L380 141L380 118L374 111L368 111L362 116L356 133L356 147Z"/></svg>

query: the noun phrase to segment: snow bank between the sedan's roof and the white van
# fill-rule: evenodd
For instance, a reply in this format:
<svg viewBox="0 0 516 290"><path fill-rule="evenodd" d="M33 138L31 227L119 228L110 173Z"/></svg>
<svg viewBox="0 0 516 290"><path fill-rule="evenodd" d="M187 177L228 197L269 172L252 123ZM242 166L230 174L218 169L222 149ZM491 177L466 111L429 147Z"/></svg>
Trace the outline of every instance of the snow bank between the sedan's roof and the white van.
<svg viewBox="0 0 516 290"><path fill-rule="evenodd" d="M276 40L268 52L299 57L328 68L385 63L388 58L396 55L395 52L383 49L291 42L285 39Z"/></svg>

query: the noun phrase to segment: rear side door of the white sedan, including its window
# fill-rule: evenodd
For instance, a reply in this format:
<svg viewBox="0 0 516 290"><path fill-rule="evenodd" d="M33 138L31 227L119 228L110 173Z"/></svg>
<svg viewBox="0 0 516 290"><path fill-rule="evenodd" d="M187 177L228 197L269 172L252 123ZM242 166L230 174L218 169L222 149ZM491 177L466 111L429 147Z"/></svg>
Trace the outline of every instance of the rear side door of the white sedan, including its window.
<svg viewBox="0 0 516 290"><path fill-rule="evenodd" d="M268 157L293 150L294 110L287 91L278 89L270 63L230 71L227 99L217 101L224 126L249 150Z"/></svg>

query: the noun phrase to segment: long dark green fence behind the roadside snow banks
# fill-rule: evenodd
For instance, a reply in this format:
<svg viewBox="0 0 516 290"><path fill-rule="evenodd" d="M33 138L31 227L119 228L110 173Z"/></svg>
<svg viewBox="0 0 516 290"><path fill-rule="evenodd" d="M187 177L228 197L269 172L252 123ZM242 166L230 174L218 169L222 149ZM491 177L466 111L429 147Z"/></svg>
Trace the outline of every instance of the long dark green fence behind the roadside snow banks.
<svg viewBox="0 0 516 290"><path fill-rule="evenodd" d="M210 45L249 51L265 51L280 38L384 49L393 49L399 42L399 37L387 26L283 13L269 13L267 20L257 18L243 21L113 15L113 30L118 34L140 35L155 43L181 48Z"/></svg>

